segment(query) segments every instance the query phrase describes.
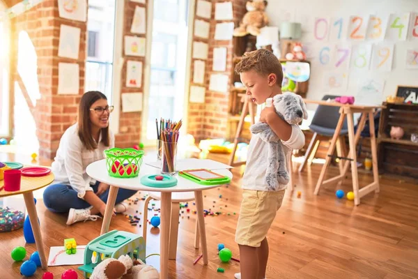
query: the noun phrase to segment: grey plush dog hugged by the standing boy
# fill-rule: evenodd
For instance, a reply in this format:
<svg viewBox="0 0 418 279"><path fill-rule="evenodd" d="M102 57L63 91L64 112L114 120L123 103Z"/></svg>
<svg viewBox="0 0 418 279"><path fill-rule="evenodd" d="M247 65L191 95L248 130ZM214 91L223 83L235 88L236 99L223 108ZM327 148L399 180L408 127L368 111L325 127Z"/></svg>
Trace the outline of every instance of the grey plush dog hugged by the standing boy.
<svg viewBox="0 0 418 279"><path fill-rule="evenodd" d="M308 119L307 107L302 97L295 93L286 92L274 96L272 105L281 119L289 124L297 125L302 119ZM265 182L269 190L277 190L279 185L286 185L289 182L286 166L288 149L267 123L256 123L251 126L250 130L251 133L258 134L261 140L269 144Z"/></svg>

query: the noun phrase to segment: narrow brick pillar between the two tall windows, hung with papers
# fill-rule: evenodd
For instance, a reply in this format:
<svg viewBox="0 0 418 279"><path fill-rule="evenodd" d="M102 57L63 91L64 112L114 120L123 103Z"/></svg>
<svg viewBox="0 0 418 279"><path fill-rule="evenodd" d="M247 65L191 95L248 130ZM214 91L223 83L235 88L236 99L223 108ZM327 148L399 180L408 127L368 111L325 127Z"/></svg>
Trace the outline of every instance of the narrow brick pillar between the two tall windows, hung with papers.
<svg viewBox="0 0 418 279"><path fill-rule="evenodd" d="M131 33L132 20L134 18L135 7L145 7L146 4L135 3L130 0L125 0L125 18L123 20L123 36L137 36L145 37L146 35ZM151 39L151 38L150 38ZM123 46L125 43L123 43ZM121 93L130 92L144 92L144 70L145 70L145 57L139 56L126 56L123 52L124 65L121 73ZM141 61L142 62L142 82L141 88L126 87L126 63L127 61ZM122 104L122 100L121 100ZM141 112L122 112L119 119L119 133L116 135L116 145L120 148L132 147L134 144L139 144L141 134Z"/></svg>

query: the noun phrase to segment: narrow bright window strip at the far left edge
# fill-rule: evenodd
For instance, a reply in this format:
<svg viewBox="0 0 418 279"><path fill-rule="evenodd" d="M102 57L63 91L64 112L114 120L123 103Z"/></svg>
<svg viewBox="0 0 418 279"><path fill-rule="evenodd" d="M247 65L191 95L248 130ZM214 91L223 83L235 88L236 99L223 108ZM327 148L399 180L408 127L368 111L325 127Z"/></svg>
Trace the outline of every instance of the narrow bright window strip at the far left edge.
<svg viewBox="0 0 418 279"><path fill-rule="evenodd" d="M10 136L9 98L9 30L10 22L5 13L6 6L0 1L0 137Z"/></svg>

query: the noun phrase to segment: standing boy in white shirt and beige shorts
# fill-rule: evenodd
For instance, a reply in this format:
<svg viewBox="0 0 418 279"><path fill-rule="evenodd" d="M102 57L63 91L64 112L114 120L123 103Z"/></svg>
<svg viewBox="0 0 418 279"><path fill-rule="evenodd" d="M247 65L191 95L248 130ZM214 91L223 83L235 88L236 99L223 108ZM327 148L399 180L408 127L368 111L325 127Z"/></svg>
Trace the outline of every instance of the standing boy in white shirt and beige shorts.
<svg viewBox="0 0 418 279"><path fill-rule="evenodd" d="M281 94L283 71L272 52L261 49L244 54L235 71L240 74L241 82L247 88L248 98L257 105L263 105L267 98ZM288 162L291 150L304 146L304 134L299 126L281 119L273 106L263 106L259 121L268 123L281 142L290 149L286 154ZM286 190L286 185L279 185L274 191L268 190L264 182L267 157L268 143L258 135L252 135L242 177L242 202L235 233L235 241L240 247L241 273L235 274L237 279L265 278L269 253L266 236Z"/></svg>

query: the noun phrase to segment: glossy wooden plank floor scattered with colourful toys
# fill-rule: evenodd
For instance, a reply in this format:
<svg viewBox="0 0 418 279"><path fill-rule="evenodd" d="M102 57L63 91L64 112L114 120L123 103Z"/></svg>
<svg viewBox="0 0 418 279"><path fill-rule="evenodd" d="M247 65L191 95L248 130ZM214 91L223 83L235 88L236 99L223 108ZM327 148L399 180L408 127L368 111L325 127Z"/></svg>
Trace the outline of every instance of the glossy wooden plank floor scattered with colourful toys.
<svg viewBox="0 0 418 279"><path fill-rule="evenodd" d="M226 159L224 157L225 162ZM294 164L294 169L297 169L297 163ZM381 192L367 195L359 206L354 206L345 198L337 199L334 195L336 188L323 188L320 195L313 194L321 166L314 164L302 174L295 173L295 190L286 193L268 234L270 259L267 278L418 278L417 183L382 177ZM200 253L193 247L196 215L186 211L182 214L178 258L170 261L170 278L233 278L233 273L239 272L237 262L225 264L219 261L217 244L224 243L232 250L233 257L240 257L234 234L240 210L242 170L240 167L233 170L231 186L203 194L206 195L205 209L225 213L206 217L208 266L203 266L202 261L193 265ZM331 170L337 171L335 167ZM371 176L361 174L360 179L360 184L366 185ZM350 184L346 179L341 188L347 192ZM297 191L302 192L300 198ZM138 197L145 194L139 193ZM159 203L155 202L155 208L158 207ZM195 207L189 203L190 209ZM37 208L47 254L50 246L62 246L65 238L74 237L79 245L85 245L100 233L100 220L68 227L65 225L66 216L46 211L42 200ZM136 206L132 204L130 212L141 217L135 211L141 212L142 209L140 202ZM132 227L124 216L116 216L110 229L142 234L141 228ZM158 253L159 245L159 229L148 227L146 254ZM4 255L0 257L0 278L21 278L20 263L13 262L10 257L15 246L26 246L29 255L36 250L34 244L25 244L22 229L0 234L0 252ZM158 256L147 260L159 267ZM225 272L217 273L218 267ZM69 268L77 269L77 266L53 266L48 270L55 278L61 278L61 273ZM38 269L32 278L42 278L42 273ZM82 273L79 274L82 278Z"/></svg>

